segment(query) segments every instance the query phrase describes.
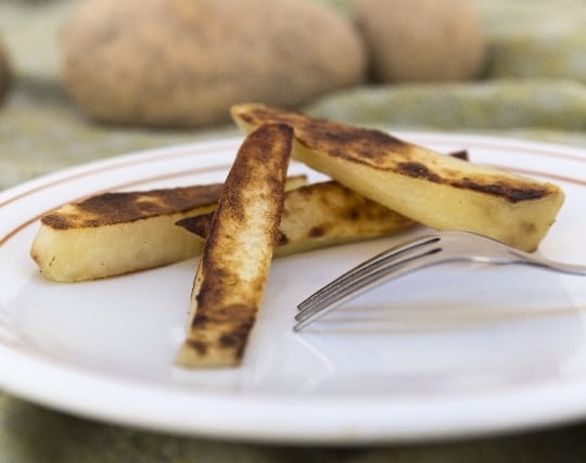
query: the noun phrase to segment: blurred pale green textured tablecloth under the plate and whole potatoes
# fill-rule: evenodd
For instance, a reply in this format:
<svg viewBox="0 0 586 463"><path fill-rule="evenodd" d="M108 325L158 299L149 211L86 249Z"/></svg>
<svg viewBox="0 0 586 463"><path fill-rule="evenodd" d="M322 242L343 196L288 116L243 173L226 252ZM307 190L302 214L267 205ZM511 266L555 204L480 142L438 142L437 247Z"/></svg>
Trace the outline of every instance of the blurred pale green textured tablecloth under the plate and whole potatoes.
<svg viewBox="0 0 586 463"><path fill-rule="evenodd" d="M327 0L322 0L327 1ZM343 11L349 1L333 2ZM586 147L586 9L582 0L476 0L489 39L486 78L362 86L306 108L355 124L494 133ZM149 131L86 119L60 79L59 25L72 1L2 0L14 86L0 106L0 189L67 166L238 133ZM0 366L1 374L1 366ZM0 393L0 462L582 462L586 424L409 446L282 447L180 438L73 417Z"/></svg>

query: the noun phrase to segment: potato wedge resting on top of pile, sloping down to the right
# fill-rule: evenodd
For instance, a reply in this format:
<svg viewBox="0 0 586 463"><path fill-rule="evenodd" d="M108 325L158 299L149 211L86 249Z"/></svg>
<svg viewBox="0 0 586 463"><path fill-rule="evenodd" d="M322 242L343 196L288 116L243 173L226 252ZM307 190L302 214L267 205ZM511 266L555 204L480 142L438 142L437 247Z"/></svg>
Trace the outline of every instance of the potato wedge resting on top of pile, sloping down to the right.
<svg viewBox="0 0 586 463"><path fill-rule="evenodd" d="M445 156L380 130L263 104L235 105L231 114L244 130L290 125L294 158L433 229L471 231L532 252L563 204L556 184Z"/></svg>

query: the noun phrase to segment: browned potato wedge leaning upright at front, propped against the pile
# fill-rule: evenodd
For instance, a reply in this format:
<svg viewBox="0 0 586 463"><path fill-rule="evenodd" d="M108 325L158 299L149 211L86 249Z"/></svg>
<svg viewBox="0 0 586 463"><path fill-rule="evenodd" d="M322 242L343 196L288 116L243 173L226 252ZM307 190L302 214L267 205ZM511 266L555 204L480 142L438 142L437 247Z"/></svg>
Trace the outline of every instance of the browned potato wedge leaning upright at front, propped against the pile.
<svg viewBox="0 0 586 463"><path fill-rule="evenodd" d="M292 144L283 124L262 125L242 143L198 266L178 365L242 361L279 239Z"/></svg>

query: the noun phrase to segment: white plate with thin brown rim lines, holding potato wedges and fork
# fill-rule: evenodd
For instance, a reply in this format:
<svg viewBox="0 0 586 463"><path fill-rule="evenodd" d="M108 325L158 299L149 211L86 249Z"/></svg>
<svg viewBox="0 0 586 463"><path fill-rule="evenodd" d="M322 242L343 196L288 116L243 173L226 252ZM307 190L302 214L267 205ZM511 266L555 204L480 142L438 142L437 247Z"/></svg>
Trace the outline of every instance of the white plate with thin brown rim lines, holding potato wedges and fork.
<svg viewBox="0 0 586 463"><path fill-rule="evenodd" d="M586 262L586 153L504 139L402 133L442 152L559 182L543 254ZM403 239L273 262L244 363L173 366L195 261L79 284L28 256L38 217L104 190L221 181L241 139L100 162L0 195L0 386L55 409L170 433L357 443L506 432L586 416L586 281L521 267L436 267L302 333L295 305ZM294 164L295 171L306 171Z"/></svg>

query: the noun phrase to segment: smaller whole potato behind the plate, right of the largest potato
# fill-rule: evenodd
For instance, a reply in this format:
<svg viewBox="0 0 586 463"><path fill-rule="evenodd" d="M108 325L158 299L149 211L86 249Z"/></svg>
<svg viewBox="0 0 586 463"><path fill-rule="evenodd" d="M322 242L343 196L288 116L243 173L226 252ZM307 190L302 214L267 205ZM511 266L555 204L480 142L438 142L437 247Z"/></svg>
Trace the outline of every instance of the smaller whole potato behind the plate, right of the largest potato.
<svg viewBox="0 0 586 463"><path fill-rule="evenodd" d="M464 80L483 70L485 37L468 0L357 0L354 18L378 81Z"/></svg>

